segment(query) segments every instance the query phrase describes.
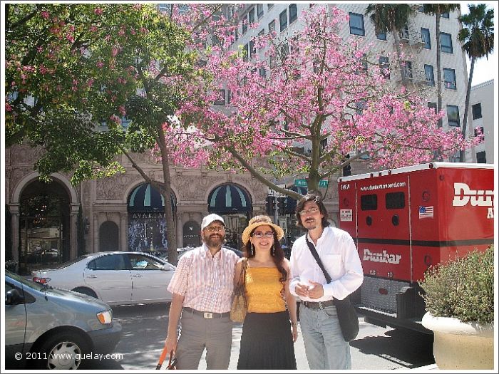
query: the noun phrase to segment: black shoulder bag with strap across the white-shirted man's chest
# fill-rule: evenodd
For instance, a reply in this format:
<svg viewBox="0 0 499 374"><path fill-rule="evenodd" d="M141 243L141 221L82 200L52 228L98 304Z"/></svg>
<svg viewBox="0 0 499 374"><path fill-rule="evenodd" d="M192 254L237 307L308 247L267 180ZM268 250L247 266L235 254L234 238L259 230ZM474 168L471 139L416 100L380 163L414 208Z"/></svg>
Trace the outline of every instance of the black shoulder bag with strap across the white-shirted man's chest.
<svg viewBox="0 0 499 374"><path fill-rule="evenodd" d="M315 261L317 261L317 264L319 264L319 267L324 273L327 283L331 283L331 276L329 276L326 269L324 269L321 258L319 257L314 244L312 244L309 241L309 238L307 238L307 234L305 234L305 240L307 241L307 245L309 246L312 256L314 256ZM334 298L333 303L334 306L336 306L339 327L341 328L341 334L343 335L343 338L345 339L345 341L353 341L359 333L359 318L357 317L354 306L351 305L349 296L346 296L346 298L344 298L343 300Z"/></svg>

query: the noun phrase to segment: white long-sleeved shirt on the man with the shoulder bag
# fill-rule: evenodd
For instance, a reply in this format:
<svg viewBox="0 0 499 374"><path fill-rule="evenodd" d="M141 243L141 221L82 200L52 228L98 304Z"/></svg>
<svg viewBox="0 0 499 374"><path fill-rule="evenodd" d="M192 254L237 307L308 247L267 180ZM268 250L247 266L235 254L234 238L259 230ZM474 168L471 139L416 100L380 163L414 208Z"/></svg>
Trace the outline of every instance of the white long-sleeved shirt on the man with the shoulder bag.
<svg viewBox="0 0 499 374"><path fill-rule="evenodd" d="M314 244L310 237L308 239ZM322 264L324 264L324 268L331 276L331 283L327 284L326 277L312 256L304 235L294 242L291 251L292 278L289 283L289 291L294 296L298 296L295 287L299 281L304 284L314 281L322 284L324 288L324 296L321 298L312 299L299 296L302 301L328 301L332 298L341 300L361 286L362 281L364 281L364 271L354 239L348 232L336 227L325 227L321 237L317 239L315 249Z"/></svg>

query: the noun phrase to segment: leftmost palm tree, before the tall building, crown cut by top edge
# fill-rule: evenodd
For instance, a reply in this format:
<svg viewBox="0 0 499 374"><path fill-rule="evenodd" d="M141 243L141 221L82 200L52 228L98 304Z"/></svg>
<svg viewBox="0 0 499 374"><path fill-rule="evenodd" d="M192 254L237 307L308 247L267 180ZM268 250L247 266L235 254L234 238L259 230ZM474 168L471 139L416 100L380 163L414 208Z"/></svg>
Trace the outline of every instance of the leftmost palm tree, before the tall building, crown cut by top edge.
<svg viewBox="0 0 499 374"><path fill-rule="evenodd" d="M401 59L400 38L398 33L406 27L413 7L410 4L369 4L366 8L366 16L371 14L376 33L393 33L395 48L398 58L398 67L402 77L402 85L407 86L405 68Z"/></svg>

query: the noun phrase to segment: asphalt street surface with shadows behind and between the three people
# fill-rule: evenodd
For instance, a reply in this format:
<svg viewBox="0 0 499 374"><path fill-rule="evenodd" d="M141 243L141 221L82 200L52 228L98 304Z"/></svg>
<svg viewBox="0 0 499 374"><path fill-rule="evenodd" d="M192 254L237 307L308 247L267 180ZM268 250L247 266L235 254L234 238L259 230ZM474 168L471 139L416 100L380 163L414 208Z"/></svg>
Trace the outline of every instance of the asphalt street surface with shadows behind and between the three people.
<svg viewBox="0 0 499 374"><path fill-rule="evenodd" d="M158 364L168 326L168 305L150 304L113 307L123 326L123 336L109 359L92 360L86 368L103 370L154 370ZM433 337L423 333L382 328L364 322L359 316L360 332L351 342L353 370L393 370L419 368L434 363ZM230 370L235 370L239 355L241 325L232 331ZM300 331L299 331L300 332ZM301 334L295 343L299 370L308 370ZM199 369L205 369L204 356Z"/></svg>

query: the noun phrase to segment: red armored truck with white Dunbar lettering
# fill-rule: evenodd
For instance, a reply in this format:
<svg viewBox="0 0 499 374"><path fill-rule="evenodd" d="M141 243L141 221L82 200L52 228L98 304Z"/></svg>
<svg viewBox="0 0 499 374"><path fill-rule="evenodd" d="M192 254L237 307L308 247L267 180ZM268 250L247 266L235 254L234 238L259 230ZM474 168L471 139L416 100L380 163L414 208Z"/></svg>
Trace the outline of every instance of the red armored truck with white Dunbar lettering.
<svg viewBox="0 0 499 374"><path fill-rule="evenodd" d="M493 165L432 162L339 178L339 226L356 242L366 321L431 333L418 281L494 239Z"/></svg>

